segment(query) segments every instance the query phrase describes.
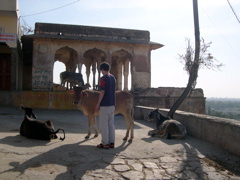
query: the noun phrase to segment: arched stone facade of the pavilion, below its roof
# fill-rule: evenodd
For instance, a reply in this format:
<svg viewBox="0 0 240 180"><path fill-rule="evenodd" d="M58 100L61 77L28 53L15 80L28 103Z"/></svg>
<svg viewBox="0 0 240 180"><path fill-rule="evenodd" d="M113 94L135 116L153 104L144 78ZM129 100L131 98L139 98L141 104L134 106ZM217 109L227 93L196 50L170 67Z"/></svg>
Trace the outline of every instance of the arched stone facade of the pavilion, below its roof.
<svg viewBox="0 0 240 180"><path fill-rule="evenodd" d="M80 66L85 65L88 66L88 62L84 62L84 54L96 48L99 51L102 51L106 54L106 61L109 62L111 66L113 66L114 54L119 50L124 50L126 53L131 54L131 59L128 57L119 57L116 66L120 67L120 74L115 75L114 72L111 72L118 78L118 81L121 81L120 84L124 84L127 78L122 77L122 67L123 62L129 61L130 69L129 73L131 74L131 82L132 82L132 89L137 88L147 88L151 86L151 66L150 66L150 57L149 54L149 47L145 45L135 45L132 47L130 44L114 44L114 43L103 43L103 42L79 42L79 41L68 41L68 46L76 52L77 59L74 64L76 64L79 69ZM33 90L50 90L50 87L53 83L53 66L55 61L59 60L56 59L56 55L59 49L65 47L66 41L64 40L51 40L51 39L36 39L33 44L33 67L32 67L32 89ZM43 48L44 47L44 48ZM134 50L134 53L132 51ZM70 60L70 59L69 59ZM95 58L94 62L89 59L89 64L92 65L91 73L93 71L98 72L98 68L96 64L99 66L101 63L101 58ZM143 65L145 68L143 68ZM90 67L89 67L90 69ZM42 72L42 73L41 73ZM80 70L81 72L81 70ZM86 72L81 72L85 75ZM123 74L124 75L124 74ZM100 74L99 74L100 76ZM89 76L88 76L89 77ZM95 76L94 76L95 77ZM44 82L45 81L45 82ZM98 82L98 79L96 79ZM89 83L89 82L88 82ZM94 87L93 84L91 84ZM120 87L118 90L121 90ZM130 89L128 89L130 90Z"/></svg>

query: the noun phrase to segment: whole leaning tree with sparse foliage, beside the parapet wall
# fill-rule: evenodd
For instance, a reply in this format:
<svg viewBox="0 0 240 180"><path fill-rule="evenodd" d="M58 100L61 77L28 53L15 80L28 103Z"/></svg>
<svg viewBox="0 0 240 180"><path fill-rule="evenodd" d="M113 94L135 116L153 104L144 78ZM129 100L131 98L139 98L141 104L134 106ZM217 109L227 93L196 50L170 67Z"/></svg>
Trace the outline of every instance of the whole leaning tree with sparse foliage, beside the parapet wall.
<svg viewBox="0 0 240 180"><path fill-rule="evenodd" d="M168 112L168 116L173 118L175 111L182 104L184 99L195 88L198 78L199 68L220 69L223 64L215 64L217 61L209 52L208 48L211 43L205 43L204 39L200 40L199 22L198 22L198 5L197 0L193 0L194 28L195 28L195 50L191 47L190 40L187 40L187 50L185 55L179 55L179 59L184 62L184 69L189 74L188 84L181 96L173 104Z"/></svg>

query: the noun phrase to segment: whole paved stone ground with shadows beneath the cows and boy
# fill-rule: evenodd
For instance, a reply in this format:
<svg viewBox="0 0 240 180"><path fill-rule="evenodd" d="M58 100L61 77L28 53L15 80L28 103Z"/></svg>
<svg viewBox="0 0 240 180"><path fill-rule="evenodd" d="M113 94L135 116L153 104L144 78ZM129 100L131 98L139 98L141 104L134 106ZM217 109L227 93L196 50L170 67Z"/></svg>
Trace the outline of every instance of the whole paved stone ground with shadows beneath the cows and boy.
<svg viewBox="0 0 240 180"><path fill-rule="evenodd" d="M80 111L35 110L66 131L64 141L19 135L23 112L0 107L0 179L240 179L240 157L188 136L152 138L152 122L135 120L132 143L122 141L125 122L116 116L116 148L98 149L100 136L85 140L87 119ZM61 134L60 134L61 135Z"/></svg>

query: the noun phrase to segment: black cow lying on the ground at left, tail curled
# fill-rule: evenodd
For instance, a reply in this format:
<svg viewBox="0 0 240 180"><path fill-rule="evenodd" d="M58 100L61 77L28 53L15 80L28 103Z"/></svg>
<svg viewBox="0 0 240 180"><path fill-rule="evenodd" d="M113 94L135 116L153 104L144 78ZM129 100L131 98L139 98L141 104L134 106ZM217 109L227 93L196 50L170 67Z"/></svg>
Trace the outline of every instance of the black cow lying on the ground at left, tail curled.
<svg viewBox="0 0 240 180"><path fill-rule="evenodd" d="M24 120L20 126L20 134L30 139L40 139L40 140L51 140L57 139L57 133L61 130L64 137L60 140L65 139L65 131L59 128L54 131L53 122L48 120L46 122L36 120L36 115L33 113L32 108L24 107L20 105L20 109L25 111Z"/></svg>

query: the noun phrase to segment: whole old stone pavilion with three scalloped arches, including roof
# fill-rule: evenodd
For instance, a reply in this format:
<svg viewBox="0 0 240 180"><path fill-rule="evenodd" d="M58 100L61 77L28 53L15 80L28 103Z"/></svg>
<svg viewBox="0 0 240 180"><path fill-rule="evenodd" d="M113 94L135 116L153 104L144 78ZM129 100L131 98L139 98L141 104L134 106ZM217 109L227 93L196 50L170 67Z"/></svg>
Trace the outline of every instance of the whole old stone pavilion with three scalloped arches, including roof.
<svg viewBox="0 0 240 180"><path fill-rule="evenodd" d="M90 74L93 76L93 88L99 79L95 80L95 75L100 77L102 62L108 62L114 69L111 73L118 80L117 90L130 90L129 74L132 90L151 87L151 51L163 46L150 41L149 31L50 23L36 23L34 34L23 36L22 42L23 49L32 46L31 55L24 51L25 57L32 56L29 90L47 91L53 83L56 61L64 63L66 71L78 69L82 74L84 65L87 83Z"/></svg>

